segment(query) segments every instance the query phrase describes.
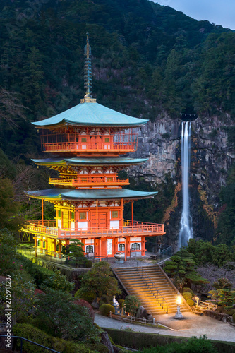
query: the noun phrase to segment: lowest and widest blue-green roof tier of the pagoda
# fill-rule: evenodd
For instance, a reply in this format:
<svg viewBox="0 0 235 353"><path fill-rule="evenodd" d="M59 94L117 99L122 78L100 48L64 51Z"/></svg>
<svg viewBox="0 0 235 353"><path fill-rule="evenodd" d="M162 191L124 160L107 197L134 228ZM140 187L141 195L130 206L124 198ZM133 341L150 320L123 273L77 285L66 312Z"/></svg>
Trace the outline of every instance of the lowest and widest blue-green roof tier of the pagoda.
<svg viewBox="0 0 235 353"><path fill-rule="evenodd" d="M144 192L128 189L47 189L36 191L24 191L32 198L44 198L48 200L116 200L116 199L141 199L152 198L157 192Z"/></svg>

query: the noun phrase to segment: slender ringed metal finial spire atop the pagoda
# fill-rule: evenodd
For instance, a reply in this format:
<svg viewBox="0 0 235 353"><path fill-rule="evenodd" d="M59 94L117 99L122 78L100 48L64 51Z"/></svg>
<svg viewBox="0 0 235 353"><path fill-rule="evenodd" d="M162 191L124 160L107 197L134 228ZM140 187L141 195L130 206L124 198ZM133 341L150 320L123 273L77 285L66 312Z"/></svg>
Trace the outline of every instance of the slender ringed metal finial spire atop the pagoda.
<svg viewBox="0 0 235 353"><path fill-rule="evenodd" d="M81 103L84 102L96 102L96 100L92 99L92 65L91 65L91 48L89 45L89 33L87 32L87 44L84 47L84 55L85 55L85 68L84 68L84 88L85 88L85 96L84 100L81 100Z"/></svg>

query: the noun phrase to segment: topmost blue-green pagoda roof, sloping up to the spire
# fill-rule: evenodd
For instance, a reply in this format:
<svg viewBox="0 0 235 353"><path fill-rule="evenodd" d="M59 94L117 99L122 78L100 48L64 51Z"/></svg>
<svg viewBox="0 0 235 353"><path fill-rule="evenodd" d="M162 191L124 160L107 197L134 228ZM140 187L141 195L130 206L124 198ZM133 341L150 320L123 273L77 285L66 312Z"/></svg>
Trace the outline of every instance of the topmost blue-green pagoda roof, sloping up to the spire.
<svg viewBox="0 0 235 353"><path fill-rule="evenodd" d="M85 102L66 110L51 118L35 121L32 124L37 128L49 126L120 126L131 127L146 124L148 120L138 119L116 112L96 102Z"/></svg>

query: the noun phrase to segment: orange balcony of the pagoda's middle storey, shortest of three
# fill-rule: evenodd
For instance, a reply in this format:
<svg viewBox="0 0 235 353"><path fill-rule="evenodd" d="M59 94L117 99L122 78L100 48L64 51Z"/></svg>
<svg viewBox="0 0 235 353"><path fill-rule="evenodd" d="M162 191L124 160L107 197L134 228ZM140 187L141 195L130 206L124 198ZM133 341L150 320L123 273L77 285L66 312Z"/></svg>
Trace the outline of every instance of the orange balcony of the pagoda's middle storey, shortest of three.
<svg viewBox="0 0 235 353"><path fill-rule="evenodd" d="M124 185L129 185L129 179L118 179L116 177L107 177L105 176L83 176L76 179L63 179L63 178L50 178L49 184L52 185L62 185L62 186L72 186L79 188L88 188L88 187L101 187L101 188L112 188L119 187Z"/></svg>

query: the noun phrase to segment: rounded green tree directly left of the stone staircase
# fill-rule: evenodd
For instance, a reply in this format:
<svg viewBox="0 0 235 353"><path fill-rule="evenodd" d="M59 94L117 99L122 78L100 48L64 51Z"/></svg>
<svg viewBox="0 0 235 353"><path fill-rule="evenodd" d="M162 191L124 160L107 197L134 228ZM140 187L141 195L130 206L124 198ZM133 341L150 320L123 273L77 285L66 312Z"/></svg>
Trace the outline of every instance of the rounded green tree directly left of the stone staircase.
<svg viewBox="0 0 235 353"><path fill-rule="evenodd" d="M114 278L109 263L105 261L93 265L92 269L84 276L81 289L95 293L98 299L104 294L110 298L116 294L121 294L118 281Z"/></svg>

